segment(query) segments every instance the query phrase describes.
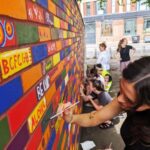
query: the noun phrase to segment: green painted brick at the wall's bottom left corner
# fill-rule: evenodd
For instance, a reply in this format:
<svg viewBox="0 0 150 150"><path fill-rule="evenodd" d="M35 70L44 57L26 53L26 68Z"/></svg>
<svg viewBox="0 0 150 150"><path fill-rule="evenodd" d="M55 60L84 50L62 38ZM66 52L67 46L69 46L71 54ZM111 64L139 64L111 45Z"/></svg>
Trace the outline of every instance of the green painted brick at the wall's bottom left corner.
<svg viewBox="0 0 150 150"><path fill-rule="evenodd" d="M4 146L10 140L10 130L8 126L8 120L5 117L4 119L0 120L0 150L4 149Z"/></svg>

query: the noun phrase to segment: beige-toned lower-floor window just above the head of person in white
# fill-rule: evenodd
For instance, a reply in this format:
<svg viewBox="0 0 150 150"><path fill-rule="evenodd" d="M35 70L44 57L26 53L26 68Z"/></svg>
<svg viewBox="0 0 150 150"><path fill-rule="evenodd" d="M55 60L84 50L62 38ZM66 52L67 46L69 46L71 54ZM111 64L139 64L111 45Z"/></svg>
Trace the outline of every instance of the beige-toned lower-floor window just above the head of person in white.
<svg viewBox="0 0 150 150"><path fill-rule="evenodd" d="M112 36L112 21L105 20L102 22L102 36Z"/></svg>

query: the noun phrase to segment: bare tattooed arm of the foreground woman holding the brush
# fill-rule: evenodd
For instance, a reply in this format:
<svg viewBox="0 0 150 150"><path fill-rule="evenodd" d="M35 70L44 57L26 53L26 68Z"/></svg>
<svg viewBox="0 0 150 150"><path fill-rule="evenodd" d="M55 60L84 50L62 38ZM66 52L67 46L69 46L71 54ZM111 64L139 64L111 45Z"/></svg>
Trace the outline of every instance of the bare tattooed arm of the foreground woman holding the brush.
<svg viewBox="0 0 150 150"><path fill-rule="evenodd" d="M72 115L71 113L69 114L65 112L64 118L67 122L76 123L83 127L90 127L112 119L121 111L122 109L120 108L117 99L114 99L111 103L99 111L79 115Z"/></svg>

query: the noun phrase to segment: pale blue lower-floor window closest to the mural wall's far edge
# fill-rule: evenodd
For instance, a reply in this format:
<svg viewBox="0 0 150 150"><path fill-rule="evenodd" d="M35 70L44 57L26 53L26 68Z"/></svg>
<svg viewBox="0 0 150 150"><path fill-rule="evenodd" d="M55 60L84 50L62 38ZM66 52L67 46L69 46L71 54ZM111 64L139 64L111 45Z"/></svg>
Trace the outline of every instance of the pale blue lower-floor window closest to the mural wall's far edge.
<svg viewBox="0 0 150 150"><path fill-rule="evenodd" d="M96 26L95 22L85 23L85 42L86 44L96 43Z"/></svg>

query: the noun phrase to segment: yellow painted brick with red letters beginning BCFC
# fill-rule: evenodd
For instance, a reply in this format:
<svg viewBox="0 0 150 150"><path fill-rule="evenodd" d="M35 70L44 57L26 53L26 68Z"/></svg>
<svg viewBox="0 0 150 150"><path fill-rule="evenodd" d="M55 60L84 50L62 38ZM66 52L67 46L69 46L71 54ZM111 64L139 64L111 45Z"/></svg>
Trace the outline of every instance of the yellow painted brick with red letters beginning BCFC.
<svg viewBox="0 0 150 150"><path fill-rule="evenodd" d="M23 70L32 64L30 47L1 53L0 64L3 79Z"/></svg>

